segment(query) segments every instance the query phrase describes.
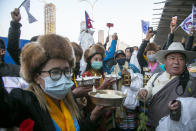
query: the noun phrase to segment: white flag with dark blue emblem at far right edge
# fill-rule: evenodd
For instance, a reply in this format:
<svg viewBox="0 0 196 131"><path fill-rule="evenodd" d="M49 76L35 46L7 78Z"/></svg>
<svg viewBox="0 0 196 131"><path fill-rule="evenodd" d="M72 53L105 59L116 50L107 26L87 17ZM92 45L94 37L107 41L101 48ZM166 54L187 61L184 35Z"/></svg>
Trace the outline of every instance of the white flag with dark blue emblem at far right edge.
<svg viewBox="0 0 196 131"><path fill-rule="evenodd" d="M193 26L193 19L192 19L192 13L180 24L181 28L187 33L189 34L189 30L192 28ZM196 26L196 25L195 25ZM195 27L194 26L194 27Z"/></svg>

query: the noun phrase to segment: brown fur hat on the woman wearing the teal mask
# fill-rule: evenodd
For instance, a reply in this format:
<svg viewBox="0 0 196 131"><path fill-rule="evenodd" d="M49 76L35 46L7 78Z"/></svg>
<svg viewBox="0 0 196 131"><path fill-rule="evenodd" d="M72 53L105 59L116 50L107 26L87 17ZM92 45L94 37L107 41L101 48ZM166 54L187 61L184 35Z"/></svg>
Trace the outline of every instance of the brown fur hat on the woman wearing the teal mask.
<svg viewBox="0 0 196 131"><path fill-rule="evenodd" d="M103 59L105 58L105 48L103 45L100 45L99 43L91 45L84 52L84 60L87 62L87 59L94 56L95 54L101 54Z"/></svg>

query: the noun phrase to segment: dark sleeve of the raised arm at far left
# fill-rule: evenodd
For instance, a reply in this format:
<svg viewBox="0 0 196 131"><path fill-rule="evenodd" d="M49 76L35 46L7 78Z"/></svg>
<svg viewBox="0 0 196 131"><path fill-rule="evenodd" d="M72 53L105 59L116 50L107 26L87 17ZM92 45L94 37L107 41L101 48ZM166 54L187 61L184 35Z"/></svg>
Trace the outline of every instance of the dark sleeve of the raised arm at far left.
<svg viewBox="0 0 196 131"><path fill-rule="evenodd" d="M18 22L11 21L8 33L8 43L7 51L9 52L12 59L16 64L20 65L20 53L21 49L19 47L20 42L20 27L22 25Z"/></svg>

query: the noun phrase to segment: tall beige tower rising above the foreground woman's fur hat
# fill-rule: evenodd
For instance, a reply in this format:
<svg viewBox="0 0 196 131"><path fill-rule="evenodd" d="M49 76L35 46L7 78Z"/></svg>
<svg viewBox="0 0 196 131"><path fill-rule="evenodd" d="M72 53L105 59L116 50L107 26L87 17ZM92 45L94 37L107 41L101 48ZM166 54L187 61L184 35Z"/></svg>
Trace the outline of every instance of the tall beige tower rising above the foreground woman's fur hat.
<svg viewBox="0 0 196 131"><path fill-rule="evenodd" d="M44 8L44 32L45 34L56 33L56 6L49 3Z"/></svg>

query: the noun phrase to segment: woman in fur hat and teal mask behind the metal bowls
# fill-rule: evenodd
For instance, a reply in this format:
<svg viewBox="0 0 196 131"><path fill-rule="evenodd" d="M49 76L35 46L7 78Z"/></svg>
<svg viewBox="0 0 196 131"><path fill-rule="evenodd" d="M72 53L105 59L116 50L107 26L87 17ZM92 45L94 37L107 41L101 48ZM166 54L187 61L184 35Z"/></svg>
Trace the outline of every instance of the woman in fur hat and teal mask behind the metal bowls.
<svg viewBox="0 0 196 131"><path fill-rule="evenodd" d="M101 76L101 79L96 89L106 89L113 85L115 80L110 78L104 78L104 71L103 71L103 59L105 57L105 48L102 46L101 43L97 43L89 47L84 53L84 59L87 63L86 71L82 74L83 77L85 76ZM89 97L87 98L87 106L86 112L91 112L92 109L95 107L92 104ZM101 119L101 126L99 127L99 131L106 131L112 128L112 117L111 112L107 112ZM110 121L110 122L109 122ZM106 124L107 123L107 124Z"/></svg>

